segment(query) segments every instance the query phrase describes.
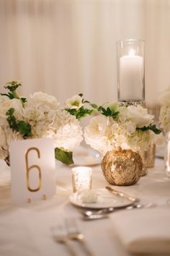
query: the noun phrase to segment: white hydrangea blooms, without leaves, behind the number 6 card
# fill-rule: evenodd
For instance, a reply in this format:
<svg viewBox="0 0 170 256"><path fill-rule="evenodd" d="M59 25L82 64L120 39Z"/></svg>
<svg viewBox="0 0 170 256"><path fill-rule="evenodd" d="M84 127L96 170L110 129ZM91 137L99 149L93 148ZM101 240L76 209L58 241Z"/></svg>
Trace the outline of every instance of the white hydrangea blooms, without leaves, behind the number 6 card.
<svg viewBox="0 0 170 256"><path fill-rule="evenodd" d="M9 155L12 140L22 140L19 132L13 131L6 120L6 111L14 108L17 120L31 125L32 138L51 137L55 148L72 151L83 140L82 129L75 116L62 110L53 95L37 92L30 95L22 106L18 99L0 96L0 158Z"/></svg>

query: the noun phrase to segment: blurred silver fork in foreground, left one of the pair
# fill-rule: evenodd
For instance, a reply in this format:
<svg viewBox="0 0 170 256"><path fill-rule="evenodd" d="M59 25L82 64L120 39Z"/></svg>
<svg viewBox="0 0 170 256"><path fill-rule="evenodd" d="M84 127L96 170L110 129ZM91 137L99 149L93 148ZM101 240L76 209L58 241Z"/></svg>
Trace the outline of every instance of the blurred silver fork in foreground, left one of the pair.
<svg viewBox="0 0 170 256"><path fill-rule="evenodd" d="M68 251L72 256L79 256L76 253L76 250L73 247L73 244L70 242L70 238L68 237L68 233L66 232L65 227L58 225L51 227L52 236L55 242L60 242L66 244Z"/></svg>

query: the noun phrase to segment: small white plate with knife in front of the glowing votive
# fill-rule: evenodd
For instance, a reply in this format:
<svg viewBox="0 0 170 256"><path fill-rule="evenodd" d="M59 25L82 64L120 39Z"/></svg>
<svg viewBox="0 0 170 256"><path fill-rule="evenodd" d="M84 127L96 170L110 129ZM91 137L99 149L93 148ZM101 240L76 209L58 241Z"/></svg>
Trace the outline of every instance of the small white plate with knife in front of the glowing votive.
<svg viewBox="0 0 170 256"><path fill-rule="evenodd" d="M120 197L117 195L113 195L108 192L106 189L93 189L94 192L97 192L97 202L85 203L82 200L82 192L73 193L70 196L70 202L73 205L82 207L82 208L91 208L91 209L101 209L101 208L120 208L128 205L132 205L133 202L130 200Z"/></svg>

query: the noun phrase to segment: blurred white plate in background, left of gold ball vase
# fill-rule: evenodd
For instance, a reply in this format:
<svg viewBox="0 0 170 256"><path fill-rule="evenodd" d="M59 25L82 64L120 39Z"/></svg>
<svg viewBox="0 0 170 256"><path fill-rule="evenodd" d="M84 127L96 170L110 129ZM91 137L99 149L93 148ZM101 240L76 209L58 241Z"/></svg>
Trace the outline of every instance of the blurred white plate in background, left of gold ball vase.
<svg viewBox="0 0 170 256"><path fill-rule="evenodd" d="M95 166L102 162L102 158L96 150L80 146L73 150L73 162L75 166Z"/></svg>

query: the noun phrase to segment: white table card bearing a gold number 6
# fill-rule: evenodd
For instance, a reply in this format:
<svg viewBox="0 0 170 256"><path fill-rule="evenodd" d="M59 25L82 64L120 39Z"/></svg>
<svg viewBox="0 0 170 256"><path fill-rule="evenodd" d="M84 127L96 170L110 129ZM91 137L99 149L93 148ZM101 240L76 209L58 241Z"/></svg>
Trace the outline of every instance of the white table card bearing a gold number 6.
<svg viewBox="0 0 170 256"><path fill-rule="evenodd" d="M45 200L55 195L55 155L52 139L11 142L9 155L12 202Z"/></svg>

